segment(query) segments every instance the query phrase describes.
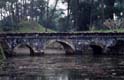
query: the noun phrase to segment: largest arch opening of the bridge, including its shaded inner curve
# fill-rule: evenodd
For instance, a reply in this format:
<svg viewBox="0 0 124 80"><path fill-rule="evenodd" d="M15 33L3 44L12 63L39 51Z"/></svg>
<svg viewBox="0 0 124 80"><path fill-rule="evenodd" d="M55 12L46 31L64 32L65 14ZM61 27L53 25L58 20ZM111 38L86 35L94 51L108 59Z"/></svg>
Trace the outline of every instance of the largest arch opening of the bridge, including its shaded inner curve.
<svg viewBox="0 0 124 80"><path fill-rule="evenodd" d="M71 55L71 54L74 54L74 52L75 52L75 49L71 43L67 41L61 41L61 40L49 41L44 48L45 54Z"/></svg>

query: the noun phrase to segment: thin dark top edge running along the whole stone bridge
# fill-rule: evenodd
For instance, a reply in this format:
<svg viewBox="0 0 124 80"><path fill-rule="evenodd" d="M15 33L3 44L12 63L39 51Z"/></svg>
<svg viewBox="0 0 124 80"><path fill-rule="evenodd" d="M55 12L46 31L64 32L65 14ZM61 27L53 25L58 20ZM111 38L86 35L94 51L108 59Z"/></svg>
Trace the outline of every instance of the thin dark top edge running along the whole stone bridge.
<svg viewBox="0 0 124 80"><path fill-rule="evenodd" d="M19 33L19 32L8 32L0 33L0 35L124 35L124 32L58 32L58 33Z"/></svg>

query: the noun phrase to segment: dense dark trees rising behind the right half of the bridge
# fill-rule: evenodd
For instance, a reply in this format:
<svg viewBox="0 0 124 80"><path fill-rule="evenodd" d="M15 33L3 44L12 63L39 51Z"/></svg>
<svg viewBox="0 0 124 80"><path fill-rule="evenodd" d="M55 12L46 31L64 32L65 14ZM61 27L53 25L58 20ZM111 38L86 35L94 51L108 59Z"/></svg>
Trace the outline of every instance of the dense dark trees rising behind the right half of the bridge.
<svg viewBox="0 0 124 80"><path fill-rule="evenodd" d="M65 0L69 6L70 20L77 31L89 30L93 25L103 29L107 19L124 16L124 0Z"/></svg>

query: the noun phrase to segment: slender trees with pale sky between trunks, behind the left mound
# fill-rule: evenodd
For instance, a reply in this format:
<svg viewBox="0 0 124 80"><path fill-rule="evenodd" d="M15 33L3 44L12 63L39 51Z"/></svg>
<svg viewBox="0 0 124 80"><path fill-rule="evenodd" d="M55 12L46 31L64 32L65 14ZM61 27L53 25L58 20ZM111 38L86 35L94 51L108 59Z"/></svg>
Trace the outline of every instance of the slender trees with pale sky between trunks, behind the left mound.
<svg viewBox="0 0 124 80"><path fill-rule="evenodd" d="M0 0L2 26L17 27L22 20L39 21L45 15L44 0Z"/></svg>

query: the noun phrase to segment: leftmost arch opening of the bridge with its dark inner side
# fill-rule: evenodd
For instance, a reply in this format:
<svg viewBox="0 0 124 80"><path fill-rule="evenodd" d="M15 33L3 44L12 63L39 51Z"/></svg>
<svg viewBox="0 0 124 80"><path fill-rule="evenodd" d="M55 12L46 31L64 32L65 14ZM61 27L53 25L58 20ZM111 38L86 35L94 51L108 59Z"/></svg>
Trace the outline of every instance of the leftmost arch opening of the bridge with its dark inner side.
<svg viewBox="0 0 124 80"><path fill-rule="evenodd" d="M13 49L14 55L34 55L34 50L30 45L18 44Z"/></svg>

